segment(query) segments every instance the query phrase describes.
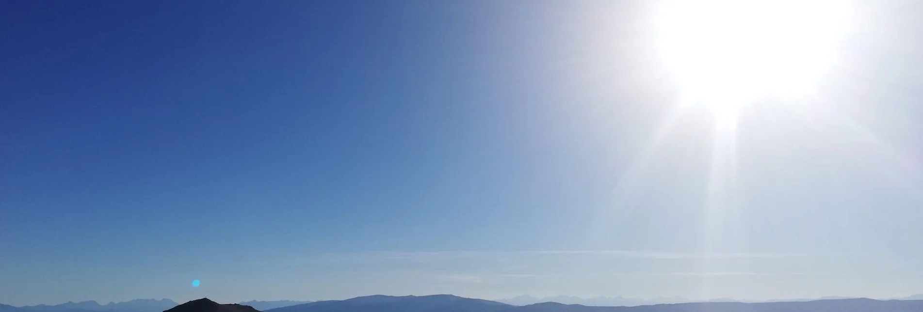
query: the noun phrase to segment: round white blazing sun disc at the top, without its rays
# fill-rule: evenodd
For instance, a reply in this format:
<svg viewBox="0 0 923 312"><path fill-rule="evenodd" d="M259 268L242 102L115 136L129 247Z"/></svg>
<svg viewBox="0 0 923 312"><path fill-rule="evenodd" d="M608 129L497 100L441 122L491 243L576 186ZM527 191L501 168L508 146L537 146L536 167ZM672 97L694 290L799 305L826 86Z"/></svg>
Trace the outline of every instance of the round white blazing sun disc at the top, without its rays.
<svg viewBox="0 0 923 312"><path fill-rule="evenodd" d="M846 0L673 0L659 45L687 96L717 113L805 92L831 65Z"/></svg>

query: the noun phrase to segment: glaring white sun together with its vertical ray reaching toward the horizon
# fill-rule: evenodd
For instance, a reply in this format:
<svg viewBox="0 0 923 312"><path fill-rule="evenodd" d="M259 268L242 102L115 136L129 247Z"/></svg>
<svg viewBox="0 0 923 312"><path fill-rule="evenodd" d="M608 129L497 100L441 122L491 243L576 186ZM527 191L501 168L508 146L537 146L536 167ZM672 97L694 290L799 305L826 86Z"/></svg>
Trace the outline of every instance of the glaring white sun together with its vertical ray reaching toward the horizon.
<svg viewBox="0 0 923 312"><path fill-rule="evenodd" d="M713 110L702 251L746 244L734 226L738 114L814 92L832 66L849 12L836 0L676 0L659 10L658 44L689 102ZM770 101L765 101L770 99ZM701 270L713 270L708 258ZM707 277L701 295L710 296Z"/></svg>

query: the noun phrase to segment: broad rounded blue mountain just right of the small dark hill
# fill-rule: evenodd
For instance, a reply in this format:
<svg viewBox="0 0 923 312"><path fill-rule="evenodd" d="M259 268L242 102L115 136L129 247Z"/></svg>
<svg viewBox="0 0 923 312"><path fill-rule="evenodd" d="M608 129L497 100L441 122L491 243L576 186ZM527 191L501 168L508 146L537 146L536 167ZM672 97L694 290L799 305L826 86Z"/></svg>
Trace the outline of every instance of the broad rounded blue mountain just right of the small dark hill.
<svg viewBox="0 0 923 312"><path fill-rule="evenodd" d="M494 312L512 306L483 299L451 294L369 295L346 300L318 301L298 306L274 308L272 312Z"/></svg>

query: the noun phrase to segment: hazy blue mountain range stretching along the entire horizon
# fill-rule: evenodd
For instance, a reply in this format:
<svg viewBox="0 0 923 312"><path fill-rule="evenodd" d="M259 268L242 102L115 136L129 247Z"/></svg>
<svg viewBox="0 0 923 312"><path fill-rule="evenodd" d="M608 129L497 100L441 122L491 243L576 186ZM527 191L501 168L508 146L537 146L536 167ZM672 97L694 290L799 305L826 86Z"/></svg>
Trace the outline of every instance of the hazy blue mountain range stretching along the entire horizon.
<svg viewBox="0 0 923 312"><path fill-rule="evenodd" d="M892 300L867 298L825 297L821 300L794 299L777 302L744 303L733 299L714 299L698 303L644 302L680 301L682 297L632 299L624 297L597 297L583 299L573 296L556 296L538 299L521 295L503 299L507 303L484 299L464 298L451 294L434 295L369 295L346 300L317 302L302 301L248 301L241 304L221 305L202 298L176 305L170 299L138 299L100 305L95 301L68 302L61 305L7 306L0 304L0 312L909 312L923 311L923 295L915 294ZM557 300L580 301L581 304L530 301ZM641 305L636 305L641 304ZM634 306L629 306L634 305ZM260 308L258 308L259 306Z"/></svg>

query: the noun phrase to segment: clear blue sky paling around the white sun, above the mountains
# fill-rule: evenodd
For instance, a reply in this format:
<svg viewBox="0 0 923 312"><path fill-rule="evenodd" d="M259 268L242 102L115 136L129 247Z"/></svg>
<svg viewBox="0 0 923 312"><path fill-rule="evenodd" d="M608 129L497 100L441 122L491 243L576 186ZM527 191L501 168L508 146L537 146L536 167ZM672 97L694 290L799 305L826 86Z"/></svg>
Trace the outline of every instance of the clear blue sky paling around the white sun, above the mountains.
<svg viewBox="0 0 923 312"><path fill-rule="evenodd" d="M729 133L652 2L4 1L0 303L923 293L923 19L854 2Z"/></svg>

